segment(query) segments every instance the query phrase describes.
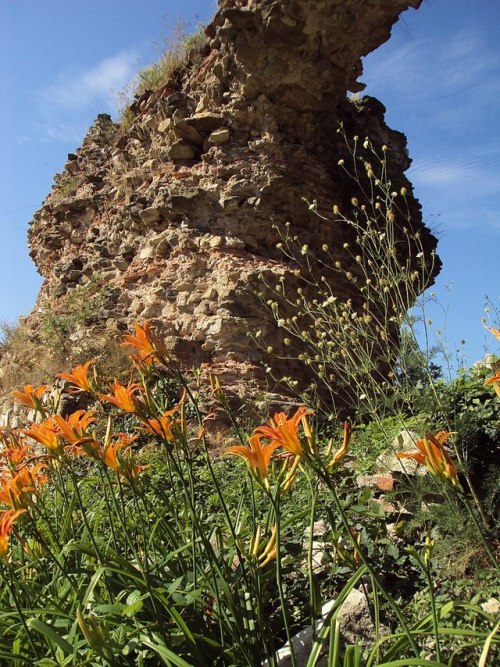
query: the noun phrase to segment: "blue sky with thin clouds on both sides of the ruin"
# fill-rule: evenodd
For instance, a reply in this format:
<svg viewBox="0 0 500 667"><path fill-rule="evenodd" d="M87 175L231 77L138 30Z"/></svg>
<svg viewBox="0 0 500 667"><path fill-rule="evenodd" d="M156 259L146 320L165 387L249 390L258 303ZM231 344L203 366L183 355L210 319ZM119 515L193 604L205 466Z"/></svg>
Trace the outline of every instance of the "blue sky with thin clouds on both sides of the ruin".
<svg viewBox="0 0 500 667"><path fill-rule="evenodd" d="M0 320L34 305L41 279L29 220L67 153L117 91L158 57L183 17L194 28L215 0L0 0ZM481 358L485 297L500 307L500 5L424 0L365 59L366 93L408 137L409 171L444 269L428 317L452 352ZM450 283L453 287L449 289ZM465 340L465 345L460 344Z"/></svg>

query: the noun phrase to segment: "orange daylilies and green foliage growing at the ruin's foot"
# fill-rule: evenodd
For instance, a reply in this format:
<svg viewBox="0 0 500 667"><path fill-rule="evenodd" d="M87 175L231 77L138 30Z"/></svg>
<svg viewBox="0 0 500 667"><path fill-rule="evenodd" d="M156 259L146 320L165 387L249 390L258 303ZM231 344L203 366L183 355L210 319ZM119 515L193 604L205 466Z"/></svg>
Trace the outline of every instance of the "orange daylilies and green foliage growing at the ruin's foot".
<svg viewBox="0 0 500 667"><path fill-rule="evenodd" d="M62 374L87 409L62 416L49 386L16 392L37 420L1 433L6 664L276 664L311 624L311 665L324 652L330 665L494 664L494 540L440 444L449 434L416 439L409 455L433 455L421 458L430 474L392 497L358 484L374 427L346 421L327 440L305 407L234 433L231 456L214 458L197 396L225 405L218 379L180 374L148 323L124 345L126 383L92 361ZM456 381L462 395L476 396L477 377ZM402 510L412 503L420 515ZM339 613L354 588L373 622L350 645Z"/></svg>

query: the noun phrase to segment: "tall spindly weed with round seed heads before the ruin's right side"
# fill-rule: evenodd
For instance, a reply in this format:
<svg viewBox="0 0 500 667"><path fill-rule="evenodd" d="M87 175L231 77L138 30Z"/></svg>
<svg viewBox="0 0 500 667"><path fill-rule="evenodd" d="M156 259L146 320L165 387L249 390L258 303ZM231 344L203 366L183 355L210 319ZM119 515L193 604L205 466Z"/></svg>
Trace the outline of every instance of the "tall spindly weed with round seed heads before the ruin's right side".
<svg viewBox="0 0 500 667"><path fill-rule="evenodd" d="M342 250L324 244L311 252L289 225L277 229L294 276L267 285L265 298L290 356L311 378L309 403L337 416L383 419L411 403L415 373L432 382L437 372L408 314L432 282L436 257L415 229L406 188L394 191L387 147L367 138L362 148L358 137L344 138L352 164L341 160L340 169L357 196L344 210L333 207L333 223L354 240ZM308 204L323 218L315 202ZM338 294L338 285L348 296ZM296 385L296 378L276 379Z"/></svg>

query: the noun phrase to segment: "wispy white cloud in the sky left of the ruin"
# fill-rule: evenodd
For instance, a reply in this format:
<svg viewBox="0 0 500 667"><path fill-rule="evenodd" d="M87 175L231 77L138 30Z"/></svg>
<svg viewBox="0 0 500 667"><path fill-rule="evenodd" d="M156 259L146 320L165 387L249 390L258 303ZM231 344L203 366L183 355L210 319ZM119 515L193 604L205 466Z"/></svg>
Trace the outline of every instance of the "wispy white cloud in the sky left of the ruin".
<svg viewBox="0 0 500 667"><path fill-rule="evenodd" d="M96 104L107 105L113 90L123 88L137 69L137 54L124 51L106 58L91 69L72 76L61 73L56 83L42 92L48 111L83 111Z"/></svg>

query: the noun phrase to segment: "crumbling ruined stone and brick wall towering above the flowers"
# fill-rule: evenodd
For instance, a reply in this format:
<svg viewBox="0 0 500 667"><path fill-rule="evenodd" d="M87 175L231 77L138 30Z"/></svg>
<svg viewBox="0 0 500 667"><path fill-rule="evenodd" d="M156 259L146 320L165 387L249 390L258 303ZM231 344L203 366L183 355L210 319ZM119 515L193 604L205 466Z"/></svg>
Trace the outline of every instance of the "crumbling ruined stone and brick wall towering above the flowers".
<svg viewBox="0 0 500 667"><path fill-rule="evenodd" d="M414 229L434 248L404 176L404 136L385 125L376 100L346 99L363 87L361 56L420 2L221 0L200 52L134 102L127 127L98 116L56 176L29 231L45 279L31 329L42 304L57 310L79 286L105 287L100 326L153 320L189 366L262 384L263 352L247 331L281 349L257 296L263 277L291 273L278 230L288 223L312 257L327 243L349 261L342 246L352 232L332 214L333 202L356 194L338 166L339 121L389 147L391 180L407 188ZM305 201L313 199L328 224ZM338 281L335 291L359 299L352 284Z"/></svg>

